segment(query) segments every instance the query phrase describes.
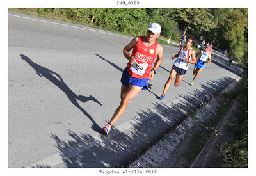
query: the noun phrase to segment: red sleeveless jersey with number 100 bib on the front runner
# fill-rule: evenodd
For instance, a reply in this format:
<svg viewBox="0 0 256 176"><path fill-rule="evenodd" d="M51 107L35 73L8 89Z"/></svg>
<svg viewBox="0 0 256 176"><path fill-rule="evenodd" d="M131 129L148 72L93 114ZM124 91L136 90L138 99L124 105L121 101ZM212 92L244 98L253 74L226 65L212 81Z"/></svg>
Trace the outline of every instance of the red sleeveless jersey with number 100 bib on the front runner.
<svg viewBox="0 0 256 176"><path fill-rule="evenodd" d="M152 64L156 58L157 42L147 47L143 44L144 36L140 36L137 44L133 48L132 56L134 56L134 63L127 63L127 70L132 77L148 78Z"/></svg>

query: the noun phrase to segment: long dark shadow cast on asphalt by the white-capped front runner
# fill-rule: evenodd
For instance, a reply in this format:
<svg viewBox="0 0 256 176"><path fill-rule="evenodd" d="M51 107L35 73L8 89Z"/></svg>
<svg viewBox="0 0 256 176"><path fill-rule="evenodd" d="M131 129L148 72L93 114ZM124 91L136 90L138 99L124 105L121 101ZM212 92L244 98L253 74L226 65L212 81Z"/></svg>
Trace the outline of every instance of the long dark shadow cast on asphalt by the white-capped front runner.
<svg viewBox="0 0 256 176"><path fill-rule="evenodd" d="M102 106L102 104L97 99L95 99L95 97L93 97L92 95L90 95L90 97L86 97L83 95L76 95L76 93L70 90L70 88L63 81L63 79L59 74L57 74L56 72L53 72L52 70L49 70L48 68L38 65L37 63L33 62L31 59L29 59L27 56L24 56L23 54L20 54L20 56L22 60L26 61L36 71L36 74L38 74L38 76L45 77L46 79L51 81L53 84L55 84L58 88L60 88L60 90L62 90L67 95L70 102L72 102L74 106L80 109L84 113L84 115L87 116L92 121L92 124L93 124L92 129L96 132L101 133L102 130L99 127L99 125L97 125L97 123L93 120L92 116L90 116L87 113L87 111L85 111L77 102L77 100L80 100L81 102L87 102L92 100L94 102L97 102L97 104L99 104L100 106ZM58 77L58 79L54 77L54 75Z"/></svg>

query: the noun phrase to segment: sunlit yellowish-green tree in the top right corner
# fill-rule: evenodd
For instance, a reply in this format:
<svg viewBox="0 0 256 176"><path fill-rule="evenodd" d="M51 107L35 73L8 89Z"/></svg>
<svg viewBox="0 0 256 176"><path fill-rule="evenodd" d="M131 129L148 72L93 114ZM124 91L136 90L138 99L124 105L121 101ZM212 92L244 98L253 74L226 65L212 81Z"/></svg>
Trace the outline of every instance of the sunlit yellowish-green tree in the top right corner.
<svg viewBox="0 0 256 176"><path fill-rule="evenodd" d="M221 49L227 49L228 54L247 60L248 45L248 9L220 8L212 9L214 28L209 37Z"/></svg>

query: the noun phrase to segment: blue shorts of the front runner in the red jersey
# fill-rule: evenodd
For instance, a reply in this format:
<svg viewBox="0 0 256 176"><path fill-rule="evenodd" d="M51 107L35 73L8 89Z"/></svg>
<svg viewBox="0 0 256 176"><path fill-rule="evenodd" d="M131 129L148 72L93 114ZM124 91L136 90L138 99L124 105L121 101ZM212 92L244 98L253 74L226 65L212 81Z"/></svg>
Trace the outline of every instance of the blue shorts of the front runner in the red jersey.
<svg viewBox="0 0 256 176"><path fill-rule="evenodd" d="M127 68L124 69L124 72L122 74L121 77L121 83L126 86L129 87L130 84L134 85L134 86L138 86L142 89L147 89L148 88L148 78L135 78L132 77Z"/></svg>

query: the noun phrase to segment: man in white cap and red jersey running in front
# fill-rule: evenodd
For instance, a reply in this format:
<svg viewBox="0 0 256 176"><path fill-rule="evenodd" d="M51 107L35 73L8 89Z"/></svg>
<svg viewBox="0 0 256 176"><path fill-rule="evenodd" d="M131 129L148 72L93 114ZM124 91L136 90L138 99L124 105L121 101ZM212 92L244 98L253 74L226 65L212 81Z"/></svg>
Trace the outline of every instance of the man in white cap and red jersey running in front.
<svg viewBox="0 0 256 176"><path fill-rule="evenodd" d="M152 80L156 70L163 61L163 47L156 42L160 36L161 26L153 23L147 29L147 36L134 38L123 49L125 58L129 60L121 77L121 102L111 120L102 131L108 134L116 120L125 112L127 105L142 89L148 88L148 79ZM132 50L132 54L129 51ZM152 64L157 56L154 68Z"/></svg>

